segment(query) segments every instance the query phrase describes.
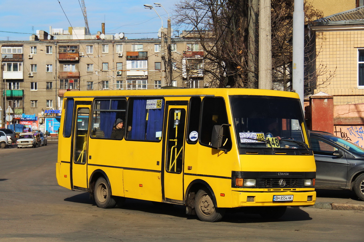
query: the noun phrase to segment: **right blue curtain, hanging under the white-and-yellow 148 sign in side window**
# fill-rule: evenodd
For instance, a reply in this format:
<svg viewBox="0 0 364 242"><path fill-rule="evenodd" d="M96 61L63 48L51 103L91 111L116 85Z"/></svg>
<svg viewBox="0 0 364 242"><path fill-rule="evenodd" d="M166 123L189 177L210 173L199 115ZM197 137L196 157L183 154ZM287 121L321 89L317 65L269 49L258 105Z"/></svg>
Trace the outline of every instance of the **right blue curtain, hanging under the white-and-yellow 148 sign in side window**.
<svg viewBox="0 0 364 242"><path fill-rule="evenodd" d="M162 131L163 113L164 100L162 101L162 108L149 109L146 140L159 140L155 137L155 132Z"/></svg>

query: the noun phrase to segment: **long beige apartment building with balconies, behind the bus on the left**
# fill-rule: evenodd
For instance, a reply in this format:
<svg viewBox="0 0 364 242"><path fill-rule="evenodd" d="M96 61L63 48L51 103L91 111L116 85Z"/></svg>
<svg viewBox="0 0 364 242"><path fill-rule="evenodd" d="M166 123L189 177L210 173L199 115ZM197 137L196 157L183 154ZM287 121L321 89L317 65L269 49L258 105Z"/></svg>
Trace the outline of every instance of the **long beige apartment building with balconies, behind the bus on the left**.
<svg viewBox="0 0 364 242"><path fill-rule="evenodd" d="M46 118L59 119L66 91L209 85L201 70L204 52L195 38L172 39L169 58L161 38L129 40L122 33L101 32L91 35L84 27L50 31L40 30L29 41L0 42L1 127L12 123L31 127L29 122L35 121L37 127L48 130L41 124L48 123ZM36 118L28 120L29 115ZM6 116L13 119L6 122ZM56 131L53 125L52 129Z"/></svg>

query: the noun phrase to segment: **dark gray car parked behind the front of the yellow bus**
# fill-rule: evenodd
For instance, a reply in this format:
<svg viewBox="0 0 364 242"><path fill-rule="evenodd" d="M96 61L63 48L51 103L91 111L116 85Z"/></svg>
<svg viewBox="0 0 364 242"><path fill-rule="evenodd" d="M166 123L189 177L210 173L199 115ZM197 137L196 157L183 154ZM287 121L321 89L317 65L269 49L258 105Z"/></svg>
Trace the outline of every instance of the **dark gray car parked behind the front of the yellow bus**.
<svg viewBox="0 0 364 242"><path fill-rule="evenodd" d="M333 134L310 131L316 188L352 190L364 201L364 149Z"/></svg>

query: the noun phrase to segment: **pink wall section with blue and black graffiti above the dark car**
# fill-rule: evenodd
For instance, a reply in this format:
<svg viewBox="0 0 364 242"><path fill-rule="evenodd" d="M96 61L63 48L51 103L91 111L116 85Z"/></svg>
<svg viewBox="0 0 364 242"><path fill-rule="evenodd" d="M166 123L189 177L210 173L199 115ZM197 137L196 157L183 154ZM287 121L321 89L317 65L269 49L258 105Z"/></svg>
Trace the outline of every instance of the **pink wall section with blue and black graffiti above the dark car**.
<svg viewBox="0 0 364 242"><path fill-rule="evenodd" d="M334 135L364 147L363 126L334 126Z"/></svg>

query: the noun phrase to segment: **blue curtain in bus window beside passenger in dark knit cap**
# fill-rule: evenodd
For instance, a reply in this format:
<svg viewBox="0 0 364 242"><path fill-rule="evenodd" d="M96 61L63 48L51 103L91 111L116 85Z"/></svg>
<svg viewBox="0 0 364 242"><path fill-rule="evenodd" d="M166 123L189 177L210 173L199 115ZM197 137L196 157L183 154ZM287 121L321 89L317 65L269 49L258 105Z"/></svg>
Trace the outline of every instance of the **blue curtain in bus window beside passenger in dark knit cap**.
<svg viewBox="0 0 364 242"><path fill-rule="evenodd" d="M118 101L113 100L100 100L100 130L104 131L104 138L110 138L112 127L115 124L116 111L106 111L111 109L116 109L118 107Z"/></svg>

